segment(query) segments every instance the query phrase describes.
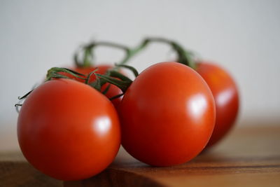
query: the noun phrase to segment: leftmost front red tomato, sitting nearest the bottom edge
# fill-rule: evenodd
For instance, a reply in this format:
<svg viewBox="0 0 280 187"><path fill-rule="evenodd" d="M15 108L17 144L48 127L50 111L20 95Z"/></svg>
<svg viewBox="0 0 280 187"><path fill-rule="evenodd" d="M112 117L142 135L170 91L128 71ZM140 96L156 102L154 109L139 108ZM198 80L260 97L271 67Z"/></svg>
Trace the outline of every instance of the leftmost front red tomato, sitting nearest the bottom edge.
<svg viewBox="0 0 280 187"><path fill-rule="evenodd" d="M43 83L27 97L18 116L25 158L44 174L64 181L102 172L120 147L113 104L89 85L71 79Z"/></svg>

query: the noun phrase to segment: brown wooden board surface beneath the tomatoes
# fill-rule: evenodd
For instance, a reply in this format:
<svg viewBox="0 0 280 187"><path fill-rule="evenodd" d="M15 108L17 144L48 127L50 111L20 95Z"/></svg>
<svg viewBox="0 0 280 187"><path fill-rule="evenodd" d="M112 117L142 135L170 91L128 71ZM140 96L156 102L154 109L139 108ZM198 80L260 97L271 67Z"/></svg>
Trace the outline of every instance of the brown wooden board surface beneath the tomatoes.
<svg viewBox="0 0 280 187"><path fill-rule="evenodd" d="M0 186L62 186L20 153L0 154ZM280 186L280 124L236 127L221 144L184 165L150 167L123 149L104 172L64 186Z"/></svg>

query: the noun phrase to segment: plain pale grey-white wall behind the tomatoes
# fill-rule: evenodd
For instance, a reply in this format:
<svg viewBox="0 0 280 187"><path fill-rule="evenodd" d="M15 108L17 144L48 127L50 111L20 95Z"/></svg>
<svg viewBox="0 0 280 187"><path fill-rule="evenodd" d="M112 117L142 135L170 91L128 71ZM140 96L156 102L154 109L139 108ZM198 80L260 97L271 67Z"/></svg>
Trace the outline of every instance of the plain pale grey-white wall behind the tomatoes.
<svg viewBox="0 0 280 187"><path fill-rule="evenodd" d="M280 1L3 1L0 0L0 149L17 149L14 104L47 69L70 66L90 39L135 46L165 36L228 69L241 93L239 124L278 120ZM97 51L99 62L122 53ZM139 71L170 59L152 45L135 57ZM244 123L245 124L245 123Z"/></svg>

